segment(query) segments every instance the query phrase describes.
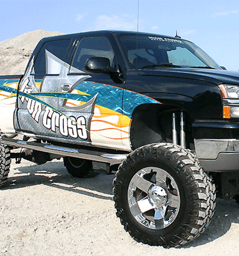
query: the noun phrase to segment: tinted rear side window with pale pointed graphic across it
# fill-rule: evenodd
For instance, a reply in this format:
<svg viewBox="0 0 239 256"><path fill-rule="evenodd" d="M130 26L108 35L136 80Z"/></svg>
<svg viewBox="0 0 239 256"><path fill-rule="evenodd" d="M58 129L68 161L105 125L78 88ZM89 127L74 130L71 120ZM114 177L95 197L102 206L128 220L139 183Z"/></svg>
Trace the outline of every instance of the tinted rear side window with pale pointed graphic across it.
<svg viewBox="0 0 239 256"><path fill-rule="evenodd" d="M46 42L34 60L34 74L59 74L70 39Z"/></svg>

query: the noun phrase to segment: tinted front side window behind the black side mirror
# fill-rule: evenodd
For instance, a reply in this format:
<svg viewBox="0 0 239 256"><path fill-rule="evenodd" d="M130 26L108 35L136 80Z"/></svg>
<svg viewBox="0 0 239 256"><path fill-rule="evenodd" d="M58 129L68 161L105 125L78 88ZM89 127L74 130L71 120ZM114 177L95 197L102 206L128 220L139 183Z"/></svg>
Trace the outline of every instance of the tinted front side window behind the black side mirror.
<svg viewBox="0 0 239 256"><path fill-rule="evenodd" d="M75 51L70 72L84 71L86 61L91 57L105 57L113 66L113 51L104 37L84 37L79 41Z"/></svg>

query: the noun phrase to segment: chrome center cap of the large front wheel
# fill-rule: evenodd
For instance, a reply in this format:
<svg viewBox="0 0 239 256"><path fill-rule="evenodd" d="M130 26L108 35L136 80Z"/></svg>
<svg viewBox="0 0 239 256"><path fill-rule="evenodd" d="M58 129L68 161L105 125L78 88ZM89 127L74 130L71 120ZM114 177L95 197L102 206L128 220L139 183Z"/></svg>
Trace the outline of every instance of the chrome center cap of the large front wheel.
<svg viewBox="0 0 239 256"><path fill-rule="evenodd" d="M162 187L152 186L148 190L148 200L154 208L161 209L167 203L167 194Z"/></svg>

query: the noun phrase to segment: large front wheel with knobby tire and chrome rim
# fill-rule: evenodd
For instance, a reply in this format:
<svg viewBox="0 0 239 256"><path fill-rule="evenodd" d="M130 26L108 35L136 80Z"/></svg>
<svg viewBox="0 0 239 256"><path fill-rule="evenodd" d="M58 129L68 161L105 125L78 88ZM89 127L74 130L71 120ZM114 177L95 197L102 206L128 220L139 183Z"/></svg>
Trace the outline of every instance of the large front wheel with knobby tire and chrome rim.
<svg viewBox="0 0 239 256"><path fill-rule="evenodd" d="M208 226L215 187L188 150L172 144L141 147L113 181L116 215L137 241L177 247Z"/></svg>

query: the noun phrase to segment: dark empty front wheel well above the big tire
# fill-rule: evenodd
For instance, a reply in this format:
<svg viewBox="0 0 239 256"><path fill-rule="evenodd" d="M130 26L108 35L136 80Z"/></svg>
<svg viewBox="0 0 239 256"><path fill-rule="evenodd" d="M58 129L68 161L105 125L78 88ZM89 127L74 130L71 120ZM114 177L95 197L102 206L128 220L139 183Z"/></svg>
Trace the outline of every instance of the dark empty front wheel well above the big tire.
<svg viewBox="0 0 239 256"><path fill-rule="evenodd" d="M173 142L172 113L175 114L177 141L180 143L180 113L183 111L185 147L194 150L191 118L184 110L172 105L142 104L137 106L132 115L130 142L132 149L157 142Z"/></svg>

